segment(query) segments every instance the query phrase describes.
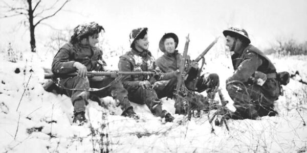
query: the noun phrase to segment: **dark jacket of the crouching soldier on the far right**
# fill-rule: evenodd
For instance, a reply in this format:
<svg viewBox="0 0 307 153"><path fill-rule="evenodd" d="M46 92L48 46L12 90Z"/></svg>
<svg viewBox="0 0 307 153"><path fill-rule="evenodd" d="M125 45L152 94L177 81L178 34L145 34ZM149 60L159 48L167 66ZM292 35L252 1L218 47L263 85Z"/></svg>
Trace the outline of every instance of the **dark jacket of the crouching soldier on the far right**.
<svg viewBox="0 0 307 153"><path fill-rule="evenodd" d="M267 74L267 81L262 85L262 93L271 97L279 96L280 85L276 79L276 68L258 48L248 45L241 54L235 53L231 56L234 68L233 75L227 79L226 83L240 81L245 84L252 84L250 78L255 71Z"/></svg>

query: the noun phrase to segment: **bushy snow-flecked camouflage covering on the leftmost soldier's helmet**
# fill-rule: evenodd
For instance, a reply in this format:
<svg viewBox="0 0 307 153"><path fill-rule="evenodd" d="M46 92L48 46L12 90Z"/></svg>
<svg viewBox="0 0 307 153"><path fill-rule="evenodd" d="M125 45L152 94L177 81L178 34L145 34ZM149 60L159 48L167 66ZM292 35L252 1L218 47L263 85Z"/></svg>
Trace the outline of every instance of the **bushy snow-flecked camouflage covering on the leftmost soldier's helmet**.
<svg viewBox="0 0 307 153"><path fill-rule="evenodd" d="M93 35L104 31L103 27L96 22L84 23L74 28L74 35L72 37L80 39L81 36Z"/></svg>

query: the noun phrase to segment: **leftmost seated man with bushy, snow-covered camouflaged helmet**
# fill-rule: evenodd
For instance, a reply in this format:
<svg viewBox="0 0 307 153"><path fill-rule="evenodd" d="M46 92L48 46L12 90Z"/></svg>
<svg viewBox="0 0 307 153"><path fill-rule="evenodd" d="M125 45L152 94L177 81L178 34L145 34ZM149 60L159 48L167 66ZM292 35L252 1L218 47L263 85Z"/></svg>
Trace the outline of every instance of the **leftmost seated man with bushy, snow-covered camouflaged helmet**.
<svg viewBox="0 0 307 153"><path fill-rule="evenodd" d="M87 71L104 70L105 62L102 59L102 51L95 46L101 31L104 32L103 27L95 22L78 25L74 29L70 43L63 45L53 59L52 72L54 74L78 72L77 77L61 78L58 81L58 84L64 87L67 95L71 97L74 106L73 122L86 121L84 113L90 95L90 87L102 88L107 85L109 87L93 92L93 94L99 97L113 96L119 101L123 116L136 115L127 98L128 92L120 81L113 82L114 77L103 77L100 80L86 77Z"/></svg>

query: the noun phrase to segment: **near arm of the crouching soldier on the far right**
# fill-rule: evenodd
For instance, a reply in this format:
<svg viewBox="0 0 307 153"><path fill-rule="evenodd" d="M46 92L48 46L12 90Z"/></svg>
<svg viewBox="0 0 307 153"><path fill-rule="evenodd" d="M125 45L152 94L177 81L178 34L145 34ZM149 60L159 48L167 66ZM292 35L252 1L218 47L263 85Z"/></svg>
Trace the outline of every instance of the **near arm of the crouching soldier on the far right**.
<svg viewBox="0 0 307 153"><path fill-rule="evenodd" d="M261 64L262 60L257 54L248 52L234 74L226 80L226 84L231 81L247 82Z"/></svg>

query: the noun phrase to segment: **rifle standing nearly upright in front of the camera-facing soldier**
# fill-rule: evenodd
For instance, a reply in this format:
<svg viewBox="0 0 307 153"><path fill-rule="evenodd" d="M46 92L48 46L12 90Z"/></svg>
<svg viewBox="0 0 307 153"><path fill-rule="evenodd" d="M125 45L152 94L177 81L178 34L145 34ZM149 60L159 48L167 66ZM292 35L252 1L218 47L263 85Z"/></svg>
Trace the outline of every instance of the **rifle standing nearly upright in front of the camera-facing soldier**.
<svg viewBox="0 0 307 153"><path fill-rule="evenodd" d="M180 61L180 73L177 77L177 87L176 87L176 101L175 101L175 113L176 114L186 114L186 112L184 112L183 109L183 100L186 96L186 91L184 88L184 79L182 77L182 73L184 72L185 69L185 63L186 63L186 59L187 59L187 54L188 54L188 48L189 48L189 42L190 42L190 38L189 38L189 34L186 37L186 42L185 42L185 46L184 46L184 50L183 50L183 56L181 58Z"/></svg>

